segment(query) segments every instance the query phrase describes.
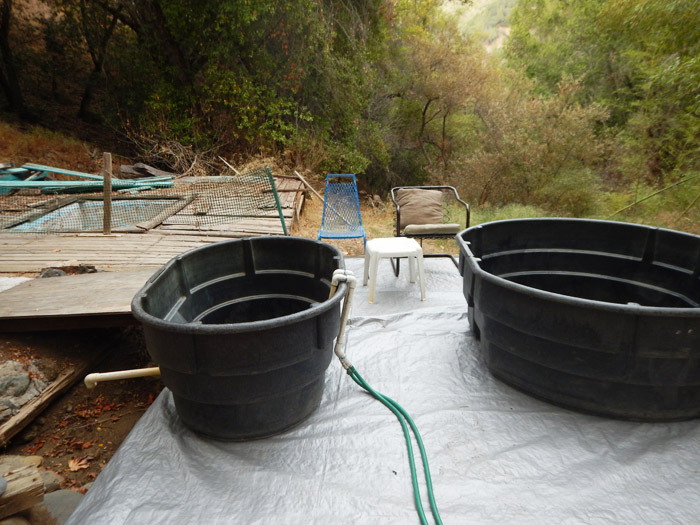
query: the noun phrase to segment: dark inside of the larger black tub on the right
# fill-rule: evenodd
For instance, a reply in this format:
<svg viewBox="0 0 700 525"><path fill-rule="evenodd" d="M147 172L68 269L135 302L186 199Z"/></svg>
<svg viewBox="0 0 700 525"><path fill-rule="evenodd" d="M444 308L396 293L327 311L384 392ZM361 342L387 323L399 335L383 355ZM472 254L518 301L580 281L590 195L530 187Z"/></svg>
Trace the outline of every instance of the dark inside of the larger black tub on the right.
<svg viewBox="0 0 700 525"><path fill-rule="evenodd" d="M550 293L614 304L697 308L698 238L625 223L490 223L465 238L485 272Z"/></svg>

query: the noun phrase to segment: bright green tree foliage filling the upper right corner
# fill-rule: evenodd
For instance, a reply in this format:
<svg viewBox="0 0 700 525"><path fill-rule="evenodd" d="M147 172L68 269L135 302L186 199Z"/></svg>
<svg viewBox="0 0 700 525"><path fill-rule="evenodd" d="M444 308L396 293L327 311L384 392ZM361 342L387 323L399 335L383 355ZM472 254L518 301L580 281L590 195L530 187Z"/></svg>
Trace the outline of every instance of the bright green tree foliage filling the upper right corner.
<svg viewBox="0 0 700 525"><path fill-rule="evenodd" d="M666 0L520 2L508 46L542 92L566 75L604 105L619 176L664 184L700 162L700 4Z"/></svg>

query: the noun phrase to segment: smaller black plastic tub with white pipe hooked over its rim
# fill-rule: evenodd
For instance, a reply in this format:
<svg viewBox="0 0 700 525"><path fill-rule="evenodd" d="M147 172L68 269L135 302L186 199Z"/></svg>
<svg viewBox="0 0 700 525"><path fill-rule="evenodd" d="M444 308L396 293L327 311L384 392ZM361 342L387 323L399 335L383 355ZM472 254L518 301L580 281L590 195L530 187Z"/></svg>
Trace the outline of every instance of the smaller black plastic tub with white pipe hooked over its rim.
<svg viewBox="0 0 700 525"><path fill-rule="evenodd" d="M183 423L221 440L283 432L319 405L340 325L333 246L257 237L190 250L136 294L148 352Z"/></svg>

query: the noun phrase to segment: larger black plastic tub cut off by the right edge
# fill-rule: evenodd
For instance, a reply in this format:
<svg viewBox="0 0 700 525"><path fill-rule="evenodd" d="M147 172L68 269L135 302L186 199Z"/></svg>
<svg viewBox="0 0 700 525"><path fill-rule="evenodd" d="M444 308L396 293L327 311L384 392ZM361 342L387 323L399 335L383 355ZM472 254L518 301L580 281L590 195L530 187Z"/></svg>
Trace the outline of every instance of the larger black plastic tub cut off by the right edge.
<svg viewBox="0 0 700 525"><path fill-rule="evenodd" d="M495 377L599 415L700 415L700 237L521 219L457 242L470 326Z"/></svg>

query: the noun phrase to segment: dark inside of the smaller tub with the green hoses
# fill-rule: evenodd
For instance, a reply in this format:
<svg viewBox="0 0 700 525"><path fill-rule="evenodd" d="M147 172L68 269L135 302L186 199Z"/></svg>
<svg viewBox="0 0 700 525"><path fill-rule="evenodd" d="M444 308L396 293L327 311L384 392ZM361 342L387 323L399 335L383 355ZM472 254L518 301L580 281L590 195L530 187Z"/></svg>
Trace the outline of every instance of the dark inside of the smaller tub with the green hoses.
<svg viewBox="0 0 700 525"><path fill-rule="evenodd" d="M274 249L259 240L235 251L208 248L165 268L144 297L148 314L207 325L284 317L327 301L338 267L321 244L309 244L308 254L286 252L279 239Z"/></svg>

